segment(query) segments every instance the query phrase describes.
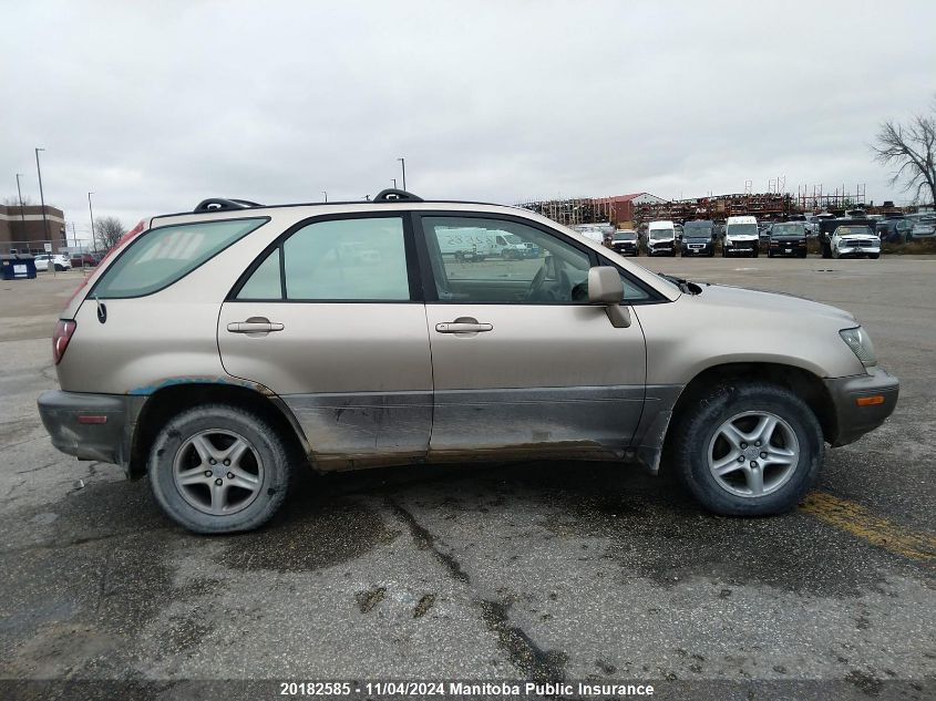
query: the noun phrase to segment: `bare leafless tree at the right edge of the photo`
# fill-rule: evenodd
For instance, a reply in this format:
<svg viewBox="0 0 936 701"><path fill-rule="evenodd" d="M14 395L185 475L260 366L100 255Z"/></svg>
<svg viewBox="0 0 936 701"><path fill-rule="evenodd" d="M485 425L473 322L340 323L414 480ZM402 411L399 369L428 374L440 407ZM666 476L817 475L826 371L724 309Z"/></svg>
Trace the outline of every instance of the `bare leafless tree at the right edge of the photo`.
<svg viewBox="0 0 936 701"><path fill-rule="evenodd" d="M905 192L915 190L915 202L928 195L936 204L936 101L930 114L918 114L908 124L885 122L872 148L875 161L896 166L891 185L903 181Z"/></svg>

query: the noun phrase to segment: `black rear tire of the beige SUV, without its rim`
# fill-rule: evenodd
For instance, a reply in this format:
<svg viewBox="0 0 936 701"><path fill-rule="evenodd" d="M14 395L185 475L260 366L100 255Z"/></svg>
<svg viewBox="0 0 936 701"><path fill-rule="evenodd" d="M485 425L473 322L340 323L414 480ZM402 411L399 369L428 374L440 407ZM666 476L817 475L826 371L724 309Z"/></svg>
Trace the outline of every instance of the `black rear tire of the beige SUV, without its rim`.
<svg viewBox="0 0 936 701"><path fill-rule="evenodd" d="M254 451L250 460L255 465L259 464L259 483L254 496L249 501L245 498L244 506L235 504L237 511L230 514L214 515L197 508L191 503L191 496L183 496L184 487L177 485L174 476L176 456L179 461L186 456L191 458L188 441L206 431L234 433L243 437ZM156 436L147 466L150 486L163 511L189 530L204 534L251 530L267 523L286 498L291 477L288 455L277 429L259 415L227 404L196 406L169 420ZM226 470L219 463L216 466L222 472ZM250 466L244 466L245 472L250 470ZM218 478L228 475L219 475ZM229 486L227 488L230 489ZM210 494L212 487L207 483L205 489ZM240 492L246 489L239 489L238 494Z"/></svg>

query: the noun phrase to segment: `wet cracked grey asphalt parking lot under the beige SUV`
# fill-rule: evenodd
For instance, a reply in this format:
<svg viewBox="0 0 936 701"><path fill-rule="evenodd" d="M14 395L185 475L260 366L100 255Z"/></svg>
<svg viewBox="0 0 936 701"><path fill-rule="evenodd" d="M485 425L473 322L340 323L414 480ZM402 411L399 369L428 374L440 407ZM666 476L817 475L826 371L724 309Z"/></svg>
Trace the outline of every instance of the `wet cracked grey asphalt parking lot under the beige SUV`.
<svg viewBox="0 0 936 701"><path fill-rule="evenodd" d="M820 680L825 698L929 697L936 258L639 262L854 312L902 380L894 416L830 451L782 517L711 516L627 466L459 465L310 475L261 532L197 537L145 481L59 453L40 423L81 272L0 282L0 678L626 679L661 698Z"/></svg>

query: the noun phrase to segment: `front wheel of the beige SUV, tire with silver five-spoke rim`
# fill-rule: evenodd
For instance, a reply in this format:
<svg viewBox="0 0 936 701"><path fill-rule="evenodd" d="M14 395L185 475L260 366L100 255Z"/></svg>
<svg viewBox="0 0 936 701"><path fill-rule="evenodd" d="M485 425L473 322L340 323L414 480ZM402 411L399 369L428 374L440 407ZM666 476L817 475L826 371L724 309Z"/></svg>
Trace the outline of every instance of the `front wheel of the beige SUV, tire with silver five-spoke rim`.
<svg viewBox="0 0 936 701"><path fill-rule="evenodd" d="M819 473L822 429L790 390L764 382L714 389L688 408L675 466L702 505L726 516L794 508Z"/></svg>

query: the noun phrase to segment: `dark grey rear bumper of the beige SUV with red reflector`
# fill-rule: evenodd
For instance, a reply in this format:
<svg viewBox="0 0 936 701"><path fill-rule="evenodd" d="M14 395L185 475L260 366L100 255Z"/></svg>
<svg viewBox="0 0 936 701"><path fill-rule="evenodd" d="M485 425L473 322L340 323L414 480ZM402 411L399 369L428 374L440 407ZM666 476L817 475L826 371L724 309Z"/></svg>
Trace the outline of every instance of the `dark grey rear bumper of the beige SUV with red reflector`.
<svg viewBox="0 0 936 701"><path fill-rule="evenodd" d="M130 465L130 449L144 396L53 390L39 396L39 415L52 445L79 460Z"/></svg>

